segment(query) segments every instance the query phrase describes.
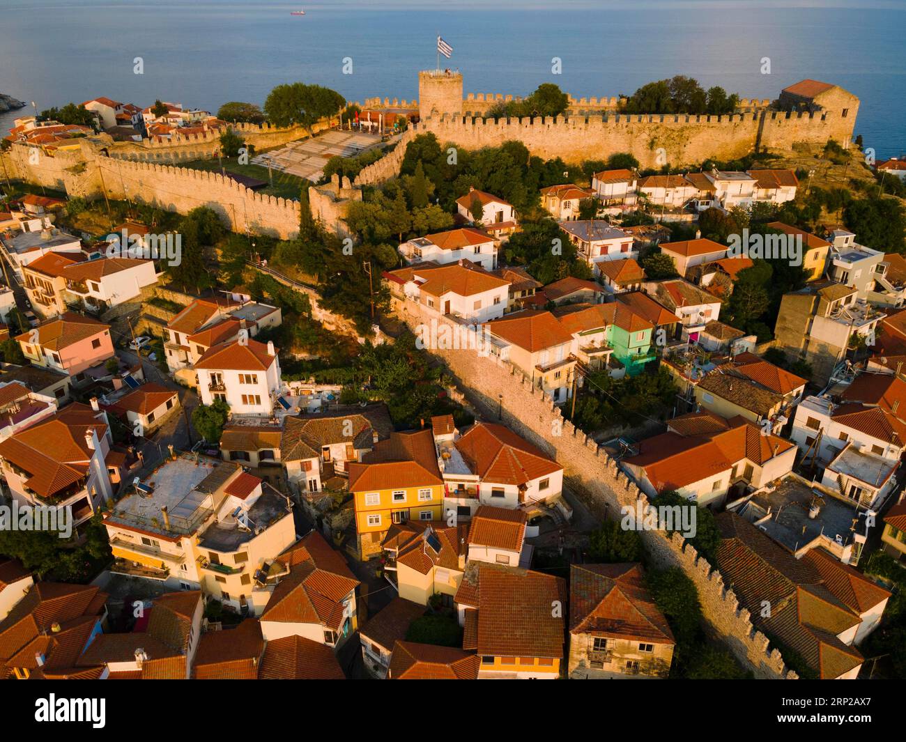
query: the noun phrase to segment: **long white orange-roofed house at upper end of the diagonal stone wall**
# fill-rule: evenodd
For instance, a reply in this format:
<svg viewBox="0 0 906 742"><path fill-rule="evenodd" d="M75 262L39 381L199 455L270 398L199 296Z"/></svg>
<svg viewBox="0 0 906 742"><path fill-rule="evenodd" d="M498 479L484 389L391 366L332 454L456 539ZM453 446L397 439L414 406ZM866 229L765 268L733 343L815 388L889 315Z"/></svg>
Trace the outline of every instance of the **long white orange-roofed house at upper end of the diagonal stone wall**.
<svg viewBox="0 0 906 742"><path fill-rule="evenodd" d="M390 282L391 294L469 323L496 320L506 312L509 282L468 261L400 268L384 277Z"/></svg>

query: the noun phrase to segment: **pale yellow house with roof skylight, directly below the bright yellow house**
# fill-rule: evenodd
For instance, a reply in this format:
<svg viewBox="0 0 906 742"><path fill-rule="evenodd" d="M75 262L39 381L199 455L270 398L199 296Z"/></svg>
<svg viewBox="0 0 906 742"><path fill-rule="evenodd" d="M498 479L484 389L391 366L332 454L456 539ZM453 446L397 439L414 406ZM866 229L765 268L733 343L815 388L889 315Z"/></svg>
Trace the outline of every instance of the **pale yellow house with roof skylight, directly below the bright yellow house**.
<svg viewBox="0 0 906 742"><path fill-rule="evenodd" d="M468 529L468 523L415 520L390 526L381 544L388 560L384 569L400 598L428 605L438 595L441 605L453 607L466 570Z"/></svg>

